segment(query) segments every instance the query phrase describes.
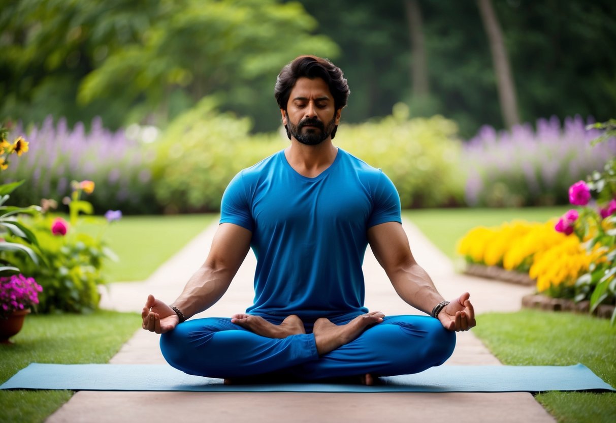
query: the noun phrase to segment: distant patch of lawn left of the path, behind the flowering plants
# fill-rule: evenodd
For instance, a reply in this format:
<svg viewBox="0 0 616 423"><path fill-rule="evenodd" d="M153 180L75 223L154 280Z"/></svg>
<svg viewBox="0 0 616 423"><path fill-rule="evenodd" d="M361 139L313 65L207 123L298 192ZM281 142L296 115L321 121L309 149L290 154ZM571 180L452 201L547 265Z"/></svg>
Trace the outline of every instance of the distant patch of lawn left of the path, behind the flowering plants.
<svg viewBox="0 0 616 423"><path fill-rule="evenodd" d="M104 239L119 261L105 263L110 282L143 281L216 218L208 215L126 216L105 229ZM98 226L84 224L97 235ZM205 257L204 257L205 258Z"/></svg>

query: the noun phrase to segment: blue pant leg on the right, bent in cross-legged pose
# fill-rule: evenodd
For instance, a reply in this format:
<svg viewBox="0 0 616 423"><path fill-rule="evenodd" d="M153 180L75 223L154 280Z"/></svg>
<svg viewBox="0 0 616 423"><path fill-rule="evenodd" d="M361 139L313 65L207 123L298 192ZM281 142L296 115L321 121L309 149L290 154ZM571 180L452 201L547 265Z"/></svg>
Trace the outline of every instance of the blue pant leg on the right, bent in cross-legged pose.
<svg viewBox="0 0 616 423"><path fill-rule="evenodd" d="M304 379L418 373L443 364L455 340L455 332L430 316L389 316L354 341L291 371Z"/></svg>

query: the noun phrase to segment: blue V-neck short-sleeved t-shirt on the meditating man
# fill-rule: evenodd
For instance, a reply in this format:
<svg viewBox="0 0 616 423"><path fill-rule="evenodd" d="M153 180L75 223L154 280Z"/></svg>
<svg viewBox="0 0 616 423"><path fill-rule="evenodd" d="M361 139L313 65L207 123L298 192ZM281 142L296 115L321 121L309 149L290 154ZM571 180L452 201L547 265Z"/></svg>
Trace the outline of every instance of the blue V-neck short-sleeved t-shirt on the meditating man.
<svg viewBox="0 0 616 423"><path fill-rule="evenodd" d="M247 313L302 320L366 313L362 263L371 226L400 220L400 197L383 171L342 149L316 178L284 150L238 173L221 223L253 232L254 304Z"/></svg>

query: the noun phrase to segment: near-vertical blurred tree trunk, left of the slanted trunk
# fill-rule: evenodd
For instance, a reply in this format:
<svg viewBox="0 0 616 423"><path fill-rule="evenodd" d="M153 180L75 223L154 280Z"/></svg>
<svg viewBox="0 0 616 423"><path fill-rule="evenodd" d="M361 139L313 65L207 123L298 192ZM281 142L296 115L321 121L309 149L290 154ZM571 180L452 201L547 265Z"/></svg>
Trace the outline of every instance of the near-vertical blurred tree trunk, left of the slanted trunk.
<svg viewBox="0 0 616 423"><path fill-rule="evenodd" d="M406 0L408 28L411 36L411 86L413 97L428 97L428 60L423 34L419 0Z"/></svg>

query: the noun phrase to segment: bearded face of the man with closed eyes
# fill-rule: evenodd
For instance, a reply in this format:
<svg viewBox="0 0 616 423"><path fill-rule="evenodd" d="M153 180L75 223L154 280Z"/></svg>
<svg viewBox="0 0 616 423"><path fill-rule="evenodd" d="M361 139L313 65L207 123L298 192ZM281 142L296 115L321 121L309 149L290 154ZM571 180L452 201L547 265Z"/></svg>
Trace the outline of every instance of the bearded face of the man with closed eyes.
<svg viewBox="0 0 616 423"><path fill-rule="evenodd" d="M315 146L330 138L340 122L330 88L321 78L299 78L291 90L282 121L291 136L302 144Z"/></svg>

